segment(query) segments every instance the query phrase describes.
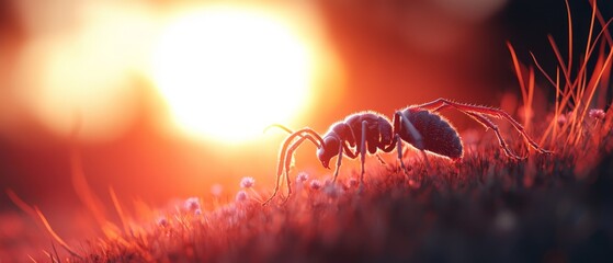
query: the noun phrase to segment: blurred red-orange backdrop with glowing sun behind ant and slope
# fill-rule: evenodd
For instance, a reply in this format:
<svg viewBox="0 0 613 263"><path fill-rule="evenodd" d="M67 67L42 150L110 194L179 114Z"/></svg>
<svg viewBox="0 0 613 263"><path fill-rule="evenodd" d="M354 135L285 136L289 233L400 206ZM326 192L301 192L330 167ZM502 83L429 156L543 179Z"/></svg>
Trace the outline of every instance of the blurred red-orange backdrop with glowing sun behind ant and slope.
<svg viewBox="0 0 613 263"><path fill-rule="evenodd" d="M581 46L591 5L570 8ZM611 1L599 8L612 16ZM506 42L553 70L547 34L566 50L563 0L0 1L0 242L27 228L5 190L69 239L91 220L71 179L75 141L109 207L110 186L151 206L206 202L212 187L232 198L243 176L272 190L285 134L263 134L269 124L325 133L357 111L391 116L441 96L515 114ZM311 145L296 160L294 174L330 173Z"/></svg>

